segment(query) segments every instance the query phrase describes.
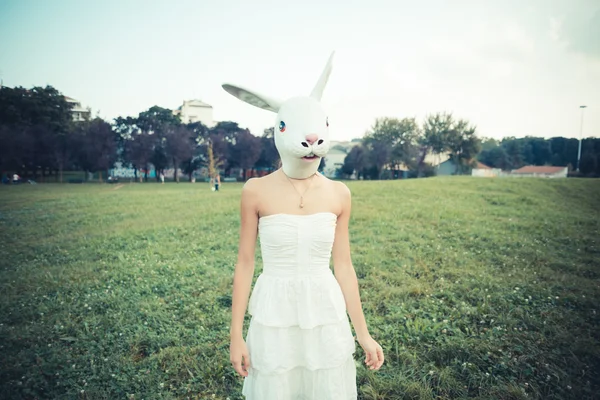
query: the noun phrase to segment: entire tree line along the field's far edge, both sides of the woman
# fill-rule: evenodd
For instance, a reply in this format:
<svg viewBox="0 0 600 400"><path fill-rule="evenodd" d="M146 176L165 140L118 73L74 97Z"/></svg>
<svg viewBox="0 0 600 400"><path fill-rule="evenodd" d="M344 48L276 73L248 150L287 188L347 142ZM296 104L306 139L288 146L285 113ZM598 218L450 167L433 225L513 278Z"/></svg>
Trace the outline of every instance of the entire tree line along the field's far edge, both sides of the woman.
<svg viewBox="0 0 600 400"><path fill-rule="evenodd" d="M172 110L154 106L136 117L118 117L113 123L101 118L73 121L71 104L55 88L0 89L0 168L37 179L53 175L62 181L63 171L99 173L115 162L131 165L136 178L149 179L168 168L192 179L205 168L229 175L241 169L244 179L253 170L273 171L279 155L273 128L253 135L236 122L213 127L200 122L184 124ZM577 165L576 139L508 137L480 139L476 127L450 113L429 115L420 124L415 118L378 118L357 140L338 169L338 177L389 179L435 174L428 156L446 154L455 174L468 174L477 161L503 170L523 165ZM320 168L323 168L323 163ZM582 144L582 174L600 176L600 139Z"/></svg>

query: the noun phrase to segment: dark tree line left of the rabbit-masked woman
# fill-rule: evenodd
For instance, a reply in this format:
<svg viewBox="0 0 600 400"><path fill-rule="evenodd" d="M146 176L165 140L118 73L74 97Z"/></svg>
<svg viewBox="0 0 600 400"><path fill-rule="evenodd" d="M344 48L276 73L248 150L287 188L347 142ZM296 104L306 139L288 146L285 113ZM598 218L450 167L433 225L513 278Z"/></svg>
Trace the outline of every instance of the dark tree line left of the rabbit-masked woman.
<svg viewBox="0 0 600 400"><path fill-rule="evenodd" d="M273 130L257 137L236 122L214 127L200 122L184 124L172 110L154 106L137 117L118 117L113 124L101 118L73 121L71 104L51 86L0 89L0 168L37 179L63 171L102 173L115 162L131 165L136 177L148 179L181 169L191 180L205 167L228 174L232 168L246 172L277 168L279 155ZM101 176L101 175L100 175Z"/></svg>

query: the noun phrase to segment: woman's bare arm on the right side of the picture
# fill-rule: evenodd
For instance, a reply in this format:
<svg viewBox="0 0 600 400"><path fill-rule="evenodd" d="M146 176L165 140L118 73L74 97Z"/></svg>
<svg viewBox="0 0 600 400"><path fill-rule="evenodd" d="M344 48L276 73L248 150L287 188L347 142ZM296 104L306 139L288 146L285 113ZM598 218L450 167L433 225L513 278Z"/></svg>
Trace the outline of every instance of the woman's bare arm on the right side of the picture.
<svg viewBox="0 0 600 400"><path fill-rule="evenodd" d="M339 183L338 185L342 211L337 219L335 241L333 243L333 268L335 278L344 294L346 309L348 310L352 325L354 326L357 340L365 350L365 363L371 369L379 369L384 360L383 350L381 349L381 346L373 340L367 328L367 322L360 301L358 279L356 278L356 271L354 271L352 258L350 256L348 225L352 208L351 193L350 189L343 183Z"/></svg>

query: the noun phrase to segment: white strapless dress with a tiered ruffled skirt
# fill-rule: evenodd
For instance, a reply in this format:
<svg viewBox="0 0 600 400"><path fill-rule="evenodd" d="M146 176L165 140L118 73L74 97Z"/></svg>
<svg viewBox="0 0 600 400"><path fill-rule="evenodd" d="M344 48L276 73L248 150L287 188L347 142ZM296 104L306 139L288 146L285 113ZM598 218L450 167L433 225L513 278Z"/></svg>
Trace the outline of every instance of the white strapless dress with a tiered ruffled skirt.
<svg viewBox="0 0 600 400"><path fill-rule="evenodd" d="M275 214L258 230L263 271L248 304L247 400L356 400L354 337L329 268L333 213Z"/></svg>

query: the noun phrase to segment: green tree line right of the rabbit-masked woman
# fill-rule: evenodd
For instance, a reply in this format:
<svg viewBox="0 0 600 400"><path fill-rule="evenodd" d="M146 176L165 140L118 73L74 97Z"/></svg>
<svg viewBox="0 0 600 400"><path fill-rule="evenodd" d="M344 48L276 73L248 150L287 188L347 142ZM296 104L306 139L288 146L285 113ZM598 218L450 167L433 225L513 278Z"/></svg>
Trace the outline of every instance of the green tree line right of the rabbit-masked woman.
<svg viewBox="0 0 600 400"><path fill-rule="evenodd" d="M481 162L510 171L525 165L578 167L579 140L553 137L479 138L476 128L451 113L436 113L419 124L414 118L379 118L362 142L351 148L341 168L343 177L393 179L436 173L428 155L446 155L456 175L470 174ZM582 140L579 173L600 176L600 139ZM405 172L406 174L402 174Z"/></svg>

